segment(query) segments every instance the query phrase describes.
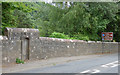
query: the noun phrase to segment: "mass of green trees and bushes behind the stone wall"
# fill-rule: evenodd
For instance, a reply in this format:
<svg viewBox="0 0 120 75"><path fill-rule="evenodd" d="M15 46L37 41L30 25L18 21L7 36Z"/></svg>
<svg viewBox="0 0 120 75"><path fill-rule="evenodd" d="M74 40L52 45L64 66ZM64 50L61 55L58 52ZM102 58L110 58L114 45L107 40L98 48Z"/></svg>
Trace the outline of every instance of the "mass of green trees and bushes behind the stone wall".
<svg viewBox="0 0 120 75"><path fill-rule="evenodd" d="M40 36L63 39L101 40L102 32L113 32L120 41L118 3L74 2L68 8L42 2L3 2L2 29L37 28Z"/></svg>

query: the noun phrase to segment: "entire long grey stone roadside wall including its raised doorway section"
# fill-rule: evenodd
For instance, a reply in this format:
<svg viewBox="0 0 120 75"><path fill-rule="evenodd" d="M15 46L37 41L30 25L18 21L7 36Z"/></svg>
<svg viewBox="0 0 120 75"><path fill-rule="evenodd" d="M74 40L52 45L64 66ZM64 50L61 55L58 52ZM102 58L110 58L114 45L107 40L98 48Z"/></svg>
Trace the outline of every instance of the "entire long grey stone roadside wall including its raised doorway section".
<svg viewBox="0 0 120 75"><path fill-rule="evenodd" d="M0 36L2 63L55 57L79 56L118 52L117 42L94 42L39 37L39 30L32 28L5 28ZM2 48L2 49L1 49Z"/></svg>

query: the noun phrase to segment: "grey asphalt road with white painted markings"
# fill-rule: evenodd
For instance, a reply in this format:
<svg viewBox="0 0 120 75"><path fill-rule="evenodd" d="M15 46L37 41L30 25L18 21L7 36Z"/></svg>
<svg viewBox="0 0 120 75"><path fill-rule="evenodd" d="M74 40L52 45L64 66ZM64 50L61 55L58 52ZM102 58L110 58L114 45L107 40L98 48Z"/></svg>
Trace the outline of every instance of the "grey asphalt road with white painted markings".
<svg viewBox="0 0 120 75"><path fill-rule="evenodd" d="M19 73L118 73L118 65L118 54L109 54Z"/></svg>

